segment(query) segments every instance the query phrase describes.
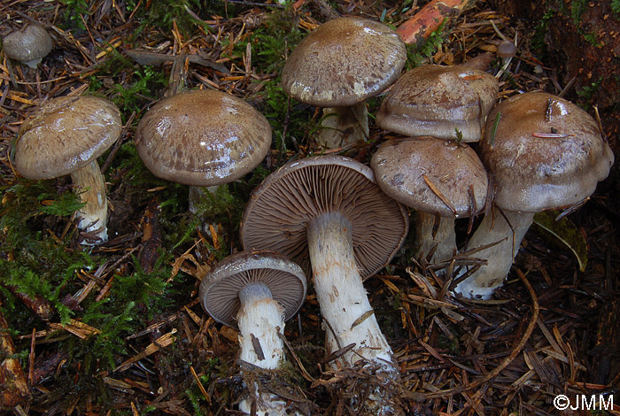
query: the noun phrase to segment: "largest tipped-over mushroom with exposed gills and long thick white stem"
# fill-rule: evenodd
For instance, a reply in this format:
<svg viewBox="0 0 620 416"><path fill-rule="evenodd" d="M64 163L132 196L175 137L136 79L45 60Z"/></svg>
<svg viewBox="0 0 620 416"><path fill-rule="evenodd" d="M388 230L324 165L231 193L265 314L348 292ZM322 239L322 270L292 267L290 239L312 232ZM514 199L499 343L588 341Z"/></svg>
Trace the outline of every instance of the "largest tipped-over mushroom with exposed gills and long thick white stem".
<svg viewBox="0 0 620 416"><path fill-rule="evenodd" d="M241 226L244 248L281 252L306 271L327 331L329 352L343 366L399 377L363 279L388 264L407 235L407 212L376 186L372 170L336 155L305 158L271 173L254 189ZM385 397L367 406L384 414ZM387 413L385 413L387 414Z"/></svg>

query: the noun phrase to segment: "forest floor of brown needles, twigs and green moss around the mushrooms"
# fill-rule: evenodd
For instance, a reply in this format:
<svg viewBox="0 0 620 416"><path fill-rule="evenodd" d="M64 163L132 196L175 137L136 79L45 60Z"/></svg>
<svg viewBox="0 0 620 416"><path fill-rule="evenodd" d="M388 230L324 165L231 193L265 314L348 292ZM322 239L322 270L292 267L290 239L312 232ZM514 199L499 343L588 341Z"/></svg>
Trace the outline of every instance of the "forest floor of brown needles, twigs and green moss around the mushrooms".
<svg viewBox="0 0 620 416"><path fill-rule="evenodd" d="M239 221L252 189L291 158L324 152L314 142L316 109L289 99L279 85L283 63L309 31L335 16L399 27L424 3L4 0L0 35L34 19L54 43L36 69L4 55L0 61L0 363L14 358L19 369L12 375L27 386L5 381L4 411L240 414L237 333L202 311L198 285L219 260L241 250ZM570 68L546 45L550 16L519 19L470 2L426 42L408 47L406 69L460 64L494 52L501 35L516 39L517 55L498 74L498 98L544 90L577 101L602 114L617 159L618 104L609 104L596 82L570 81ZM606 19L616 25L620 17ZM490 71L498 73L497 59ZM153 176L134 147L144 112L179 88L244 98L267 117L275 138L261 166L205 198L195 215L187 187ZM81 94L105 96L123 119L120 140L100 158L110 240L94 248L80 243L87 235L76 227L69 179L29 181L11 163L11 144L38 104ZM380 102L369 100L371 114ZM353 157L368 163L394 136L371 121L370 139ZM613 397L607 413L620 414L619 183L614 167L587 204L570 213L572 237L532 227L492 300L453 297L446 277L413 259L411 236L390 266L365 281L399 365L407 414L593 414L558 411L558 395L573 405L580 395ZM217 227L207 234L205 223ZM460 243L467 225L459 224ZM304 414L353 414L347 397L371 381L323 364L312 289L285 335L289 365L254 374L261 386Z"/></svg>

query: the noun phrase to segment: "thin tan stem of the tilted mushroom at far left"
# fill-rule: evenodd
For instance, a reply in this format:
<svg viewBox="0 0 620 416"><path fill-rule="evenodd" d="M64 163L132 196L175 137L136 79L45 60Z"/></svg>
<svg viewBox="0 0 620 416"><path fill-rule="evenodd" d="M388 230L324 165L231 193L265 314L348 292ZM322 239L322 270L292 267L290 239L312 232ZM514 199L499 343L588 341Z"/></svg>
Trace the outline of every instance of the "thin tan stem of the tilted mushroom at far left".
<svg viewBox="0 0 620 416"><path fill-rule="evenodd" d="M107 219L108 202L105 196L105 179L97 161L71 173L75 191L81 202L86 203L78 212L78 227L97 238L97 242L85 241L84 244L105 243L108 240Z"/></svg>

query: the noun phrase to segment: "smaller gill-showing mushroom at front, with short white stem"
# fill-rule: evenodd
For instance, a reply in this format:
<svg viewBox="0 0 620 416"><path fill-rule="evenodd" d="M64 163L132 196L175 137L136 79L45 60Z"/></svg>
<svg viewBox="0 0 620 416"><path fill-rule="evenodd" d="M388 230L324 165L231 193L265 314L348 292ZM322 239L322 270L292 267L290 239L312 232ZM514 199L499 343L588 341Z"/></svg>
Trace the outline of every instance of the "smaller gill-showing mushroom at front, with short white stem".
<svg viewBox="0 0 620 416"><path fill-rule="evenodd" d="M199 298L213 320L239 329L242 361L272 370L284 359L284 320L291 319L306 299L306 274L274 252L240 252L203 278ZM258 415L287 414L286 401L261 391L242 400L239 409L251 413L252 401Z"/></svg>

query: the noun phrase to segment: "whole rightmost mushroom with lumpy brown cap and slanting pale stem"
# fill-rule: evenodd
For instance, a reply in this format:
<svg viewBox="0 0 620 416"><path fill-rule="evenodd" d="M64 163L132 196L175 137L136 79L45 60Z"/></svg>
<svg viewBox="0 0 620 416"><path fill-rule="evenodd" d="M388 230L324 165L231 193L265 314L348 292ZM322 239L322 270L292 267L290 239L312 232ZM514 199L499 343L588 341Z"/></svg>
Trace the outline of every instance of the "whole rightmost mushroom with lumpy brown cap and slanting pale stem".
<svg viewBox="0 0 620 416"><path fill-rule="evenodd" d="M487 264L455 288L470 298L489 298L501 285L535 212L583 202L614 163L592 116L543 92L512 96L492 110L480 157L497 187L495 208L468 248L494 245L475 254Z"/></svg>

